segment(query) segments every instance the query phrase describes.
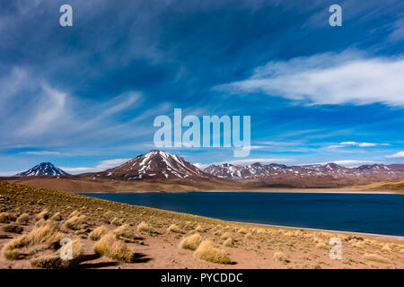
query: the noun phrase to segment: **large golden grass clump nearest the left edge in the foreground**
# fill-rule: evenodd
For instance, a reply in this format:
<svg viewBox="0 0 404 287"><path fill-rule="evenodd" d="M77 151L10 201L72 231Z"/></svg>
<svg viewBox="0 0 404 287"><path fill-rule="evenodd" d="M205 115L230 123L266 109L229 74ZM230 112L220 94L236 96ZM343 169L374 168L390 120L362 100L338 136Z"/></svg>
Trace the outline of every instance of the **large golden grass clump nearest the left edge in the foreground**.
<svg viewBox="0 0 404 287"><path fill-rule="evenodd" d="M29 248L35 245L42 245L42 248L56 248L62 238L63 234L57 231L53 226L45 225L9 241L4 245L2 253L4 258L8 260L19 260L31 255L29 250L23 248Z"/></svg>

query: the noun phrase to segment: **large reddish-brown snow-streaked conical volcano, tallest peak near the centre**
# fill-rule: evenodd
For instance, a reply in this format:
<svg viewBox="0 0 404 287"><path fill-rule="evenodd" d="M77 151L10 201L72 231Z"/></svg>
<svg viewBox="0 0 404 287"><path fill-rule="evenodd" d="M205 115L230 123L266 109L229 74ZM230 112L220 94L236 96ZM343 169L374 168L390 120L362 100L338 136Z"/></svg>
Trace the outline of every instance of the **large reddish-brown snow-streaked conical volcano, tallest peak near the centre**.
<svg viewBox="0 0 404 287"><path fill-rule="evenodd" d="M105 170L99 176L124 180L144 178L215 178L209 173L199 170L196 166L178 155L156 150L141 154L119 167Z"/></svg>

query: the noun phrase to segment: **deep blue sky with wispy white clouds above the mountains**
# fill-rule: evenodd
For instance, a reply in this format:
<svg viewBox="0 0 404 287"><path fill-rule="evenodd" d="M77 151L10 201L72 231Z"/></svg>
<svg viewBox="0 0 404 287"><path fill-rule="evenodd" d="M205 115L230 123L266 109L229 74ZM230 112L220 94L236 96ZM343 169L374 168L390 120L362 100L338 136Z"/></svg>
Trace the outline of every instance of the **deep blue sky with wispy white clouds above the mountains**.
<svg viewBox="0 0 404 287"><path fill-rule="evenodd" d="M403 39L392 0L1 1L0 175L118 165L154 149L174 108L251 116L248 158L167 149L201 167L404 163Z"/></svg>

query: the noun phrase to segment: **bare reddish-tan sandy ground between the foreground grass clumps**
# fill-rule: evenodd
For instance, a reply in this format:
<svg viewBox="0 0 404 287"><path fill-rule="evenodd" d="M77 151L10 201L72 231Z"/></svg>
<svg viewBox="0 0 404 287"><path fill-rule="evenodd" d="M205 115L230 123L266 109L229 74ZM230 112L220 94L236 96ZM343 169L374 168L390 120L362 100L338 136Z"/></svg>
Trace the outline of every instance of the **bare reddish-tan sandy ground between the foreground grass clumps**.
<svg viewBox="0 0 404 287"><path fill-rule="evenodd" d="M99 226L100 222L88 222L89 226ZM232 224L232 223L230 223ZM193 251L179 247L180 240L186 237L186 233L192 230L183 230L184 234L173 233L164 228L156 229L159 234L138 232L136 226L131 229L141 240L138 243L127 243L136 251L136 259L133 263L122 263L111 260L108 257L99 257L94 254L92 248L94 242L86 235L78 236L75 232L66 230L60 223L61 230L67 238L81 239L84 249L83 268L403 268L404 238L381 235L364 235L347 232L329 232L321 230L301 230L293 228L279 228L259 225L246 225L249 235L239 232L237 228L224 226L200 232L204 239L211 239L215 245L223 249L232 259L232 265L208 263L193 256ZM0 229L4 223L0 224ZM21 225L24 233L33 228L33 222L29 225ZM113 230L115 226L106 224ZM221 235L228 230L234 239L232 247L224 247ZM0 248L9 240L20 235L0 232ZM342 239L342 259L329 257L328 241L332 237ZM347 241L348 236L356 239ZM318 242L324 242L325 246L319 247ZM351 242L352 241L352 242ZM363 246L353 246L353 242L366 242ZM384 250L386 244L388 250ZM400 248L396 247L400 245ZM384 249L383 249L384 248ZM283 252L287 261L278 262L274 259L275 252ZM375 254L388 260L388 263L380 263L364 259L364 254ZM31 268L30 260L9 261L1 257L0 268Z"/></svg>

